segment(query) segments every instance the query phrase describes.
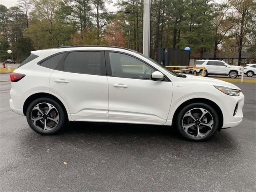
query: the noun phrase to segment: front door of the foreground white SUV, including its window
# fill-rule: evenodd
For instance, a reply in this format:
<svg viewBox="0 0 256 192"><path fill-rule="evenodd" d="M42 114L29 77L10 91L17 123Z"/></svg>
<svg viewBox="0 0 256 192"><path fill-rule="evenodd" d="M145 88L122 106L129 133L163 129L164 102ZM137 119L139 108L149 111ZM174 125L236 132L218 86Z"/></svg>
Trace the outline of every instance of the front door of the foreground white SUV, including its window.
<svg viewBox="0 0 256 192"><path fill-rule="evenodd" d="M172 82L150 79L154 69L121 52L105 52L108 71L108 122L164 124L172 101Z"/></svg>

